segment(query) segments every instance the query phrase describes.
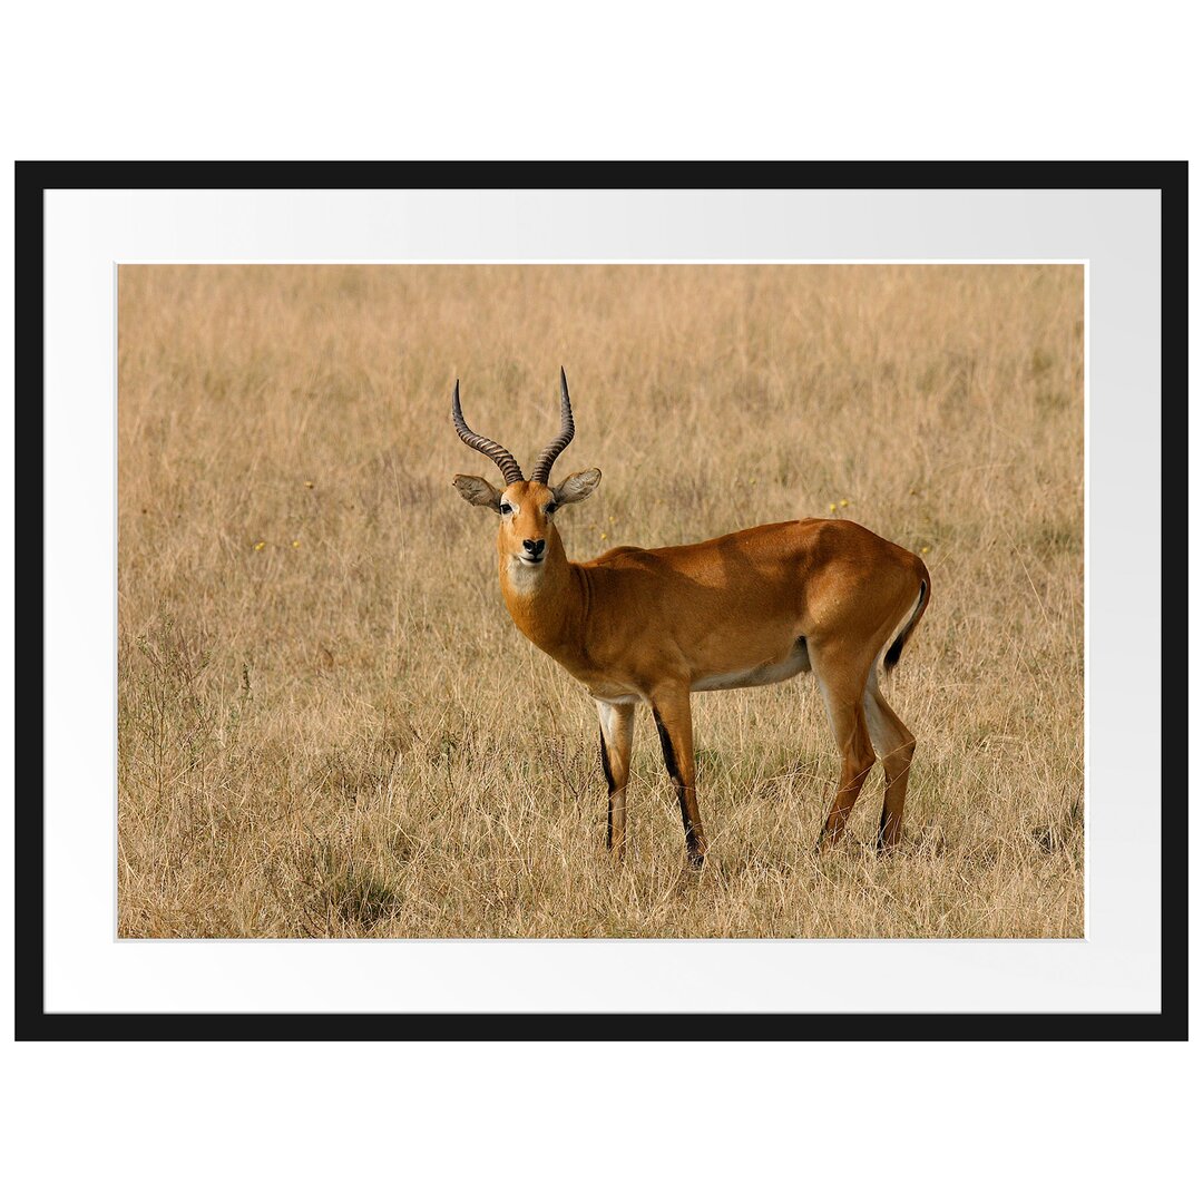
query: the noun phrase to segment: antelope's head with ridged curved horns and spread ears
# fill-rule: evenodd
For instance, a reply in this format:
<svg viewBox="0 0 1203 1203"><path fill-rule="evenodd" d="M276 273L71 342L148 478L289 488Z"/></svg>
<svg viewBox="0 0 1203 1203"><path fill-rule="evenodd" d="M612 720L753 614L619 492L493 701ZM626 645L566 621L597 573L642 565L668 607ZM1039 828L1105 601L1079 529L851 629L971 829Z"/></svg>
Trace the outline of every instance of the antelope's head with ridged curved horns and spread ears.
<svg viewBox="0 0 1203 1203"><path fill-rule="evenodd" d="M482 476L456 476L451 484L469 505L484 505L499 515L497 551L503 577L508 574L516 588L529 588L541 580L549 563L558 565L565 561L564 546L556 531L556 511L563 505L583 502L602 479L597 468L588 468L565 476L558 485L550 484L552 464L576 432L564 369L559 369L559 434L539 456L529 480L523 478L517 461L500 443L468 428L460 409L458 380L451 393L451 421L468 446L487 455L500 468L505 487L497 488Z"/></svg>

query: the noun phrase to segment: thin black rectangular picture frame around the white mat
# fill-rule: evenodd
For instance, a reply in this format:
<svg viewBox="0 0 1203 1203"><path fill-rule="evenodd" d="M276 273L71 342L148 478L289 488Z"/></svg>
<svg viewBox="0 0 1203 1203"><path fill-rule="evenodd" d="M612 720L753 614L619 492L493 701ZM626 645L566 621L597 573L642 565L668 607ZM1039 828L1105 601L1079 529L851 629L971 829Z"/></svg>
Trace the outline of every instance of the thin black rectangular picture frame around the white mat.
<svg viewBox="0 0 1203 1203"><path fill-rule="evenodd" d="M43 251L45 194L52 189L1140 189L1161 195L1161 514L1163 540L1185 541L1187 479L1187 165L1081 162L41 162L16 165L16 432L19 496L36 522L18 540L20 644L45 651L43 623ZM1161 624L1186 629L1186 564L1161 557ZM1162 646L1165 753L1185 737L1172 705ZM22 676L19 746L45 754L42 672ZM45 1007L43 761L34 801L20 790L14 820L14 1026L19 1041L112 1039L858 1039L1181 1041L1187 1036L1187 817L1161 826L1161 998L1158 1013L961 1014L265 1014L48 1013ZM1163 811L1165 813L1165 811Z"/></svg>

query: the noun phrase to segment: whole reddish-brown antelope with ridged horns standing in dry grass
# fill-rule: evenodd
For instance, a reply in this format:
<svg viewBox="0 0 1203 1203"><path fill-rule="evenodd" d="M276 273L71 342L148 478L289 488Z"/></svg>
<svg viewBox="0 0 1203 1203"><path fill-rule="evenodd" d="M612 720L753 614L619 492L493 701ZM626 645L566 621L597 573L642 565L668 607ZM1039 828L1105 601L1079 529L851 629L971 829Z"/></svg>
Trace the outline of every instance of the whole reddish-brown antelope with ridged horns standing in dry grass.
<svg viewBox="0 0 1203 1203"><path fill-rule="evenodd" d="M627 843L627 782L635 706L645 703L660 736L685 824L688 864L700 869L706 836L694 788L689 695L774 685L813 671L842 758L835 800L818 847L841 840L865 778L881 759L885 798L877 846L902 834L915 739L878 687L914 634L931 593L918 556L855 522L801 518L675 547L612 547L570 561L558 511L598 486L597 468L551 484L575 434L568 380L559 369L559 434L527 480L499 443L473 432L451 393L460 438L500 469L504 488L481 476L452 484L470 505L493 510L502 598L514 624L580 681L597 704L602 769L609 788L606 847Z"/></svg>

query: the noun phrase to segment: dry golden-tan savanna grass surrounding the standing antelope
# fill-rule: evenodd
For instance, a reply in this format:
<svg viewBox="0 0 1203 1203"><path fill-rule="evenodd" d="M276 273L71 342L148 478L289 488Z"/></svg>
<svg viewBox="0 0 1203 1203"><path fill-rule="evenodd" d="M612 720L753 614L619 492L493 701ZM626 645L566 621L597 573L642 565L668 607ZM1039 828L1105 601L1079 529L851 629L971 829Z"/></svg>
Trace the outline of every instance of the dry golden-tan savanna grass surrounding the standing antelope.
<svg viewBox="0 0 1203 1203"><path fill-rule="evenodd" d="M123 936L1080 936L1077 267L124 267ZM921 552L903 845L813 677L695 695L705 870L646 710L624 867L592 703L500 600L497 476L599 467L569 556L783 518ZM499 479L499 478L498 478ZM558 475L553 479L558 479Z"/></svg>

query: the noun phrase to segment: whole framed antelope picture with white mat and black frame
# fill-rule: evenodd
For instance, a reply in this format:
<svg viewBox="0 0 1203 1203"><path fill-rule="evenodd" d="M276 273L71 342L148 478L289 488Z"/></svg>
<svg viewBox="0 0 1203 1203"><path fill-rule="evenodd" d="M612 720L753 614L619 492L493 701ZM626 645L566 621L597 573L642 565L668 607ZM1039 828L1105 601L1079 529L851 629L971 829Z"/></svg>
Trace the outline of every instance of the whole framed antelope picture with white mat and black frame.
<svg viewBox="0 0 1203 1203"><path fill-rule="evenodd" d="M1184 165L22 165L18 205L22 1035L1183 1035ZM587 638L543 633L557 553Z"/></svg>

